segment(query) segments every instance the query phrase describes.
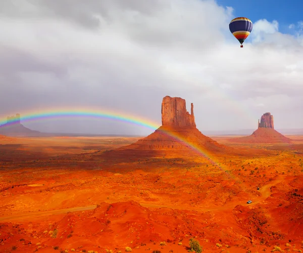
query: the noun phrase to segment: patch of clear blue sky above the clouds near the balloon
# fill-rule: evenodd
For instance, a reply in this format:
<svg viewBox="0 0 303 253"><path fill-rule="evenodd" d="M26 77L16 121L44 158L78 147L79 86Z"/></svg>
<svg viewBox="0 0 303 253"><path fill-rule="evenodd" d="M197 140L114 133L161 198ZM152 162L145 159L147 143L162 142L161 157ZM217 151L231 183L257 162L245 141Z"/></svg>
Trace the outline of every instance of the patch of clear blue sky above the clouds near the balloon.
<svg viewBox="0 0 303 253"><path fill-rule="evenodd" d="M302 0L217 0L221 6L230 6L234 9L236 17L249 18L252 23L267 19L272 22L279 22L279 31L283 33L294 33L289 29L290 24L297 25L298 21L303 20L303 1Z"/></svg>

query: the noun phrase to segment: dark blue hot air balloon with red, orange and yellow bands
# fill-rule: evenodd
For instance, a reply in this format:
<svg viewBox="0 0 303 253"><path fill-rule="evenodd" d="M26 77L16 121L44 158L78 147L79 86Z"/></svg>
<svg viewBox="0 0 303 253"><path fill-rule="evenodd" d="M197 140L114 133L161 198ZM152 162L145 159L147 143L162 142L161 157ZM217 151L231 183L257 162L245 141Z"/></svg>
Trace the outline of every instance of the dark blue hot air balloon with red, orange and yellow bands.
<svg viewBox="0 0 303 253"><path fill-rule="evenodd" d="M248 37L252 30L252 22L248 18L234 18L229 23L229 30L236 37L237 40L239 40L239 43L241 43L241 48L243 48L243 42L245 38Z"/></svg>

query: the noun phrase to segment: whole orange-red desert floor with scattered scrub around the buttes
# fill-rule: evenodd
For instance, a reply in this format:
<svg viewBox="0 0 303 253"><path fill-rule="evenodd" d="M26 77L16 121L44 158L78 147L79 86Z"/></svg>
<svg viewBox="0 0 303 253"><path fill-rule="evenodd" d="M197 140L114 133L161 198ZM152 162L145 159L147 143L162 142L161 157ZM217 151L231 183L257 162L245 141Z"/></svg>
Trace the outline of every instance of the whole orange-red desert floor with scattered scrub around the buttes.
<svg viewBox="0 0 303 253"><path fill-rule="evenodd" d="M139 138L0 137L0 252L301 252L303 136L234 137L211 138L250 155L108 161Z"/></svg>

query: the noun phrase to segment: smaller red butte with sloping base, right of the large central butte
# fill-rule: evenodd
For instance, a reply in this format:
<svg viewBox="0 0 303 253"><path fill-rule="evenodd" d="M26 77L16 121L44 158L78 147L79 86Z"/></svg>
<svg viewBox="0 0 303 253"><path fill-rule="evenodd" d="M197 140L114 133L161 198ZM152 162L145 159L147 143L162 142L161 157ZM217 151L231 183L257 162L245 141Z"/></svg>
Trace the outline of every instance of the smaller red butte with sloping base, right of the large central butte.
<svg viewBox="0 0 303 253"><path fill-rule="evenodd" d="M258 129L250 136L229 139L230 142L247 143L289 143L291 139L274 129L274 116L266 112L258 119Z"/></svg>

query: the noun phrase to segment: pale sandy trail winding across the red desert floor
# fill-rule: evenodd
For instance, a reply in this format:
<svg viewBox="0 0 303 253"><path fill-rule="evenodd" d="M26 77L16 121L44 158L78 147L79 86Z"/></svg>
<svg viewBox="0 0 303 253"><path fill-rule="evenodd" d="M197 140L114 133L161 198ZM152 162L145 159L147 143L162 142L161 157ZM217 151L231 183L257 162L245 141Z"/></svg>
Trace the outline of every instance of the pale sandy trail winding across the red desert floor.
<svg viewBox="0 0 303 253"><path fill-rule="evenodd" d="M140 203L140 205L148 208L172 208L172 209L180 209L180 210L193 210L197 212L209 212L209 211L215 211L215 210L226 210L226 209L233 209L236 205L242 204L242 205L256 205L260 203L261 201L265 200L271 195L270 188L278 183L281 183L284 181L284 177L279 175L274 181L271 183L263 186L260 188L260 193L262 194L260 197L251 199L252 203L246 204L246 202L231 202L229 204L226 204L224 206L214 206L211 208L203 208L203 207L190 207L190 206L178 206L178 205L167 205L167 204L154 204L154 203ZM5 216L0 217L0 222L9 222L9 221L22 221L26 219L34 219L34 218L40 218L45 216L52 216L52 215L62 215L67 214L69 212L83 212L86 210L92 210L96 208L96 205L88 205L88 206L78 206L78 207L72 207L72 208L65 208L65 209L59 209L59 210L48 210L48 211L42 211L42 212L33 212L33 213L26 213L26 214L18 214L18 215L12 215L12 216Z"/></svg>

